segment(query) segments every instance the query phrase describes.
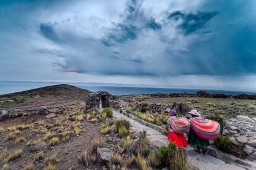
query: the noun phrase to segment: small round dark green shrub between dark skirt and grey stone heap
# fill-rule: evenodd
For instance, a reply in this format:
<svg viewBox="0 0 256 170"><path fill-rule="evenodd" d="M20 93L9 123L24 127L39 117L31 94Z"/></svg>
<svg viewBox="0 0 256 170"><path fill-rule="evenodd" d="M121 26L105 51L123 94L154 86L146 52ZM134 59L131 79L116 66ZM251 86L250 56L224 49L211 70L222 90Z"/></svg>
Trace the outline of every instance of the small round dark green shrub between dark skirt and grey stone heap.
<svg viewBox="0 0 256 170"><path fill-rule="evenodd" d="M228 137L224 137L222 135L218 136L217 139L214 140L214 144L216 148L221 151L231 153L232 150L232 142Z"/></svg>

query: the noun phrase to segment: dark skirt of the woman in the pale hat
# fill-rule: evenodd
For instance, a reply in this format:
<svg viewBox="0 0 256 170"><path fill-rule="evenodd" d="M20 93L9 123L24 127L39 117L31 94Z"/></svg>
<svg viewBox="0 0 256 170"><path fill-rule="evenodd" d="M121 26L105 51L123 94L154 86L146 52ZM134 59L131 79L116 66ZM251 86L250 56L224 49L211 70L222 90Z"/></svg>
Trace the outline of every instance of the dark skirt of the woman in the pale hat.
<svg viewBox="0 0 256 170"><path fill-rule="evenodd" d="M189 139L187 140L187 143L198 147L208 147L210 145L209 140L198 137L191 128L189 130Z"/></svg>

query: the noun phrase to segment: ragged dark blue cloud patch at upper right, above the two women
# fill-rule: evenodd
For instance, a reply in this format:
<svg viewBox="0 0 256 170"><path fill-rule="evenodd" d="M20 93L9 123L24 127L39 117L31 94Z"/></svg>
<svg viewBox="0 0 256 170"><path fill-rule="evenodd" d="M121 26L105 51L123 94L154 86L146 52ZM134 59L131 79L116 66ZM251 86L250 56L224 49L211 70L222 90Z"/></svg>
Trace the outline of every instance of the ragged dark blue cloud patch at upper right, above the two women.
<svg viewBox="0 0 256 170"><path fill-rule="evenodd" d="M170 20L179 20L181 19L181 23L179 23L178 27L184 31L184 34L189 35L194 33L197 30L202 29L205 24L218 12L197 12L197 14L189 13L185 14L181 11L177 10L168 15L168 19Z"/></svg>

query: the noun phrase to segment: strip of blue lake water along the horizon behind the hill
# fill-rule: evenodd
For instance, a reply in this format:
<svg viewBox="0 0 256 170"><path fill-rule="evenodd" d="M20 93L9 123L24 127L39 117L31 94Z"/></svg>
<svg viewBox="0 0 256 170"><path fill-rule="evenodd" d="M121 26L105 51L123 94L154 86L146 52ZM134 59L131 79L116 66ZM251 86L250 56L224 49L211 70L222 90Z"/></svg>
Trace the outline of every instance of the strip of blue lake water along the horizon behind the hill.
<svg viewBox="0 0 256 170"><path fill-rule="evenodd" d="M8 83L0 82L0 95L12 92L27 91L38 87L52 86L59 83ZM210 93L222 94L254 94L252 92L237 92L237 91L217 91L207 89L172 89L172 88L158 88L158 87L143 87L143 86L128 86L118 84L83 84L83 83L69 83L70 85L87 89L92 92L107 91L113 95L127 95L127 94L153 94L153 93L195 93L203 90Z"/></svg>

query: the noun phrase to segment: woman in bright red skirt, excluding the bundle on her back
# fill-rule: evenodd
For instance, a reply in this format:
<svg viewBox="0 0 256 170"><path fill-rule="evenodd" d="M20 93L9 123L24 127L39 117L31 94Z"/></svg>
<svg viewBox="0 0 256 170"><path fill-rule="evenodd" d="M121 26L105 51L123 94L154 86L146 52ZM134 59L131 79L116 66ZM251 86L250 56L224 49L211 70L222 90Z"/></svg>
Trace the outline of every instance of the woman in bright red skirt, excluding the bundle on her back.
<svg viewBox="0 0 256 170"><path fill-rule="evenodd" d="M175 107L170 112L171 112L171 117L176 116L177 118ZM170 124L171 122L171 117L168 119L168 124ZM168 140L170 142L175 142L177 147L183 147L183 148L187 147L187 141L185 139L184 134L177 134L176 132L173 132L173 129L171 129L171 125L169 126L169 130L168 130Z"/></svg>

